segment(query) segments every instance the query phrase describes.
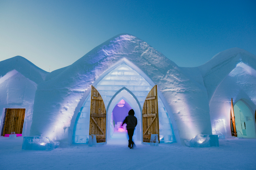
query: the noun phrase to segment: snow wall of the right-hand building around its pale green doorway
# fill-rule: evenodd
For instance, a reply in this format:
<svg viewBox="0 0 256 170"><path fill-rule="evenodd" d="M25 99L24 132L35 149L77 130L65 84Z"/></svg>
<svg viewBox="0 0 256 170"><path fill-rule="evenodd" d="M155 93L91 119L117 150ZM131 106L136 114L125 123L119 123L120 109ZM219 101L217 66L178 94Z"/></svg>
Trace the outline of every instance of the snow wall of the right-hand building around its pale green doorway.
<svg viewBox="0 0 256 170"><path fill-rule="evenodd" d="M256 56L240 48L216 54L198 67L208 92L213 133L231 136L231 98L245 101L254 118L256 109ZM255 125L255 119L253 119Z"/></svg>

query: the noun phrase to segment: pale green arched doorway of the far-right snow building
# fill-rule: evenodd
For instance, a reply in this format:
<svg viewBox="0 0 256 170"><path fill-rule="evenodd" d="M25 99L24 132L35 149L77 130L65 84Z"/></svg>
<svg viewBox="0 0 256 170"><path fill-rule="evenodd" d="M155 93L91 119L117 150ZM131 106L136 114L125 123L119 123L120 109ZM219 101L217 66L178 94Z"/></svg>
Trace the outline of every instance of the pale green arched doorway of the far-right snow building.
<svg viewBox="0 0 256 170"><path fill-rule="evenodd" d="M253 113L244 100L241 99L234 105L234 116L237 137L256 137Z"/></svg>

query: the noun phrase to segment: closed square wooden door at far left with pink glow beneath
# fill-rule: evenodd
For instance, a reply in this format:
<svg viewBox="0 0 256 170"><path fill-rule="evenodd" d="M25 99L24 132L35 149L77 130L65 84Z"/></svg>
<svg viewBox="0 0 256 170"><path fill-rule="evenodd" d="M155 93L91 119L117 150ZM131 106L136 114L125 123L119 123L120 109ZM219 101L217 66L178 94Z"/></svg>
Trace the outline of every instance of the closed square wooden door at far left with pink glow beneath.
<svg viewBox="0 0 256 170"><path fill-rule="evenodd" d="M5 134L21 134L25 117L25 109L6 109L3 125L3 136Z"/></svg>

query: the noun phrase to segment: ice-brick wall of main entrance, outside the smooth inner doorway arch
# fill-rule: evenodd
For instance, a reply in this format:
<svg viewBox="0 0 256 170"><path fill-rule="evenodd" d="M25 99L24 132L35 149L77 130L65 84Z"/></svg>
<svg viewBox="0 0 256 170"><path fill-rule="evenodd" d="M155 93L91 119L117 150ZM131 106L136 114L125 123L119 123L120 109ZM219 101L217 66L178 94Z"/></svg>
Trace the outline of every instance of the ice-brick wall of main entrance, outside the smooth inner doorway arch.
<svg viewBox="0 0 256 170"><path fill-rule="evenodd" d="M95 88L98 90L104 101L106 109L111 98L123 87L126 87L136 96L141 108L143 107L149 91L153 88L137 71L124 63L110 71L95 85ZM86 98L75 122L73 131L73 142L75 143L88 142L90 123L90 95L91 94L89 94ZM175 141L175 137L171 121L159 97L158 108L160 141L173 142ZM111 111L108 114L111 114Z"/></svg>

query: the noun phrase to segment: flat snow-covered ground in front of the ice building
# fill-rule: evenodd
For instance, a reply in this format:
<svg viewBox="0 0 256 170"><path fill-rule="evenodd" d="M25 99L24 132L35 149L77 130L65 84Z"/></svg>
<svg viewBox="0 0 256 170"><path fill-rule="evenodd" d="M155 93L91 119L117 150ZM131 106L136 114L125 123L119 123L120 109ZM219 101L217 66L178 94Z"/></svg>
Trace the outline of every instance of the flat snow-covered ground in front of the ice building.
<svg viewBox="0 0 256 170"><path fill-rule="evenodd" d="M0 136L1 170L27 169L255 169L256 139L219 140L220 147L190 148L177 143L137 144L123 138L88 147L76 144L52 151L22 150L23 137ZM117 144L119 142L119 144Z"/></svg>

